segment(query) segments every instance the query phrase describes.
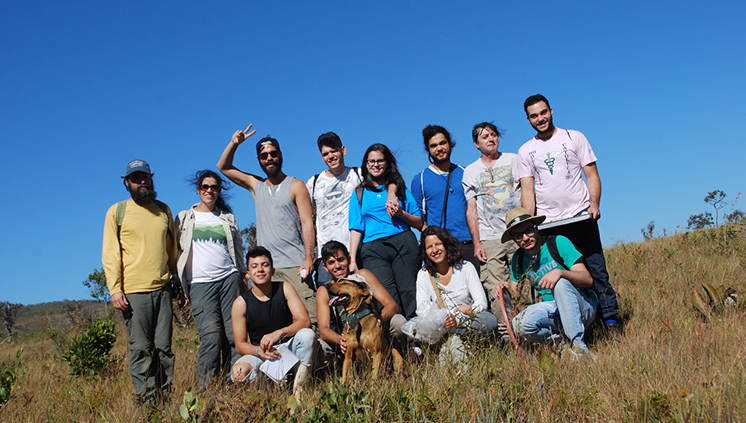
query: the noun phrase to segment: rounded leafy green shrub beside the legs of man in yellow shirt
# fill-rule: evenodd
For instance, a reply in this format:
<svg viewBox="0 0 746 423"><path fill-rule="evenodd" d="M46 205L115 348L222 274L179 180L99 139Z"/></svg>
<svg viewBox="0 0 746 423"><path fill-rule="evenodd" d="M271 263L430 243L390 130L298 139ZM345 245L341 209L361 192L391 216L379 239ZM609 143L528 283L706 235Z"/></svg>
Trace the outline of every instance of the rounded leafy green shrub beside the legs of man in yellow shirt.
<svg viewBox="0 0 746 423"><path fill-rule="evenodd" d="M109 365L109 352L117 339L116 324L112 319L96 319L85 333L70 342L63 360L70 366L70 374L98 378Z"/></svg>

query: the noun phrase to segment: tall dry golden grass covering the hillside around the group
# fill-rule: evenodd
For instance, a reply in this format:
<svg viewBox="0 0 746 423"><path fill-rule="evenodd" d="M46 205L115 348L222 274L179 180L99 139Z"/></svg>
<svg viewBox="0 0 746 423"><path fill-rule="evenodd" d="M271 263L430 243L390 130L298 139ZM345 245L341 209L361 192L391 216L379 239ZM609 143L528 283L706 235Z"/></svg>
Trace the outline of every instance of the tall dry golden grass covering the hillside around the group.
<svg viewBox="0 0 746 423"><path fill-rule="evenodd" d="M746 294L746 234L729 226L624 244L606 251L611 280L628 323L620 341L592 334L598 361L562 360L551 350L526 359L509 349L475 344L466 374L441 369L426 351L400 380L366 370L348 386L330 375L313 380L300 406L289 389L271 384L218 386L198 395L203 421L746 421L746 311L726 309L705 321L690 294L707 282ZM174 395L151 418L181 421L179 405L196 387L198 338L175 328ZM98 381L69 375L43 334L0 346L0 362L24 348L24 368L0 420L131 422L145 418L131 400L127 344Z"/></svg>

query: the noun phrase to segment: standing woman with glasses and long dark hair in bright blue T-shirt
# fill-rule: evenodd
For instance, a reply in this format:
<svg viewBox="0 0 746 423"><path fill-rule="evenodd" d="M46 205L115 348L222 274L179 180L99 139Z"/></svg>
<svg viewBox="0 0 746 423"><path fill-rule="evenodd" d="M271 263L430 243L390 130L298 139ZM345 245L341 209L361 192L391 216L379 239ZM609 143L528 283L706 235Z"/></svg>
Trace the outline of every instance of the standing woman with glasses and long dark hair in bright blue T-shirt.
<svg viewBox="0 0 746 423"><path fill-rule="evenodd" d="M388 147L368 147L361 169L363 182L350 198L350 252L354 257L362 241L365 269L373 272L396 301L399 312L410 319L417 307L419 268L417 238L411 228L422 227L422 214ZM390 185L396 186L396 198L387 201ZM350 271L358 267L353 258Z"/></svg>

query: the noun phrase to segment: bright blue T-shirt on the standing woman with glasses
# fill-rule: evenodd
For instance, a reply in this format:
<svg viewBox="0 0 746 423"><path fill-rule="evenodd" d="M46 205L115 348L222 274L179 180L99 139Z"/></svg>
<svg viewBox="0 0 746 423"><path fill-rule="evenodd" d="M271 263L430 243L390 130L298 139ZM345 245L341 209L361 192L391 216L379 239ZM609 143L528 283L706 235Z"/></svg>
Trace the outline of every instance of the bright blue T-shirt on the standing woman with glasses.
<svg viewBox="0 0 746 423"><path fill-rule="evenodd" d="M363 233L363 243L375 241L391 235L397 235L409 230L409 225L398 217L391 218L386 212L386 198L388 192L383 185L377 188L380 192L363 189L362 207L357 200L357 192L350 196L350 230ZM406 204L399 205L409 214L422 217L420 207L414 201L412 193L405 190Z"/></svg>

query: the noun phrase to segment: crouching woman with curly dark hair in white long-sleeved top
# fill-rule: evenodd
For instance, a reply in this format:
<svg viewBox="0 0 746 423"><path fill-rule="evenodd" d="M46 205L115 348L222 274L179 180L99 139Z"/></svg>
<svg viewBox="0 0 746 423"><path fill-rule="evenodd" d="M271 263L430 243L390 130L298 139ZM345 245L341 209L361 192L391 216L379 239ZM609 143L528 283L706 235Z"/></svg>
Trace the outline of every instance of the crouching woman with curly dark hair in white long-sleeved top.
<svg viewBox="0 0 746 423"><path fill-rule="evenodd" d="M451 334L486 334L497 328L497 319L487 311L487 296L477 270L464 260L456 238L439 226L428 226L420 236L420 257L425 266L417 274L418 316L432 308L448 310L445 328ZM450 352L450 361L463 358L461 345L457 336L448 340L444 351Z"/></svg>

